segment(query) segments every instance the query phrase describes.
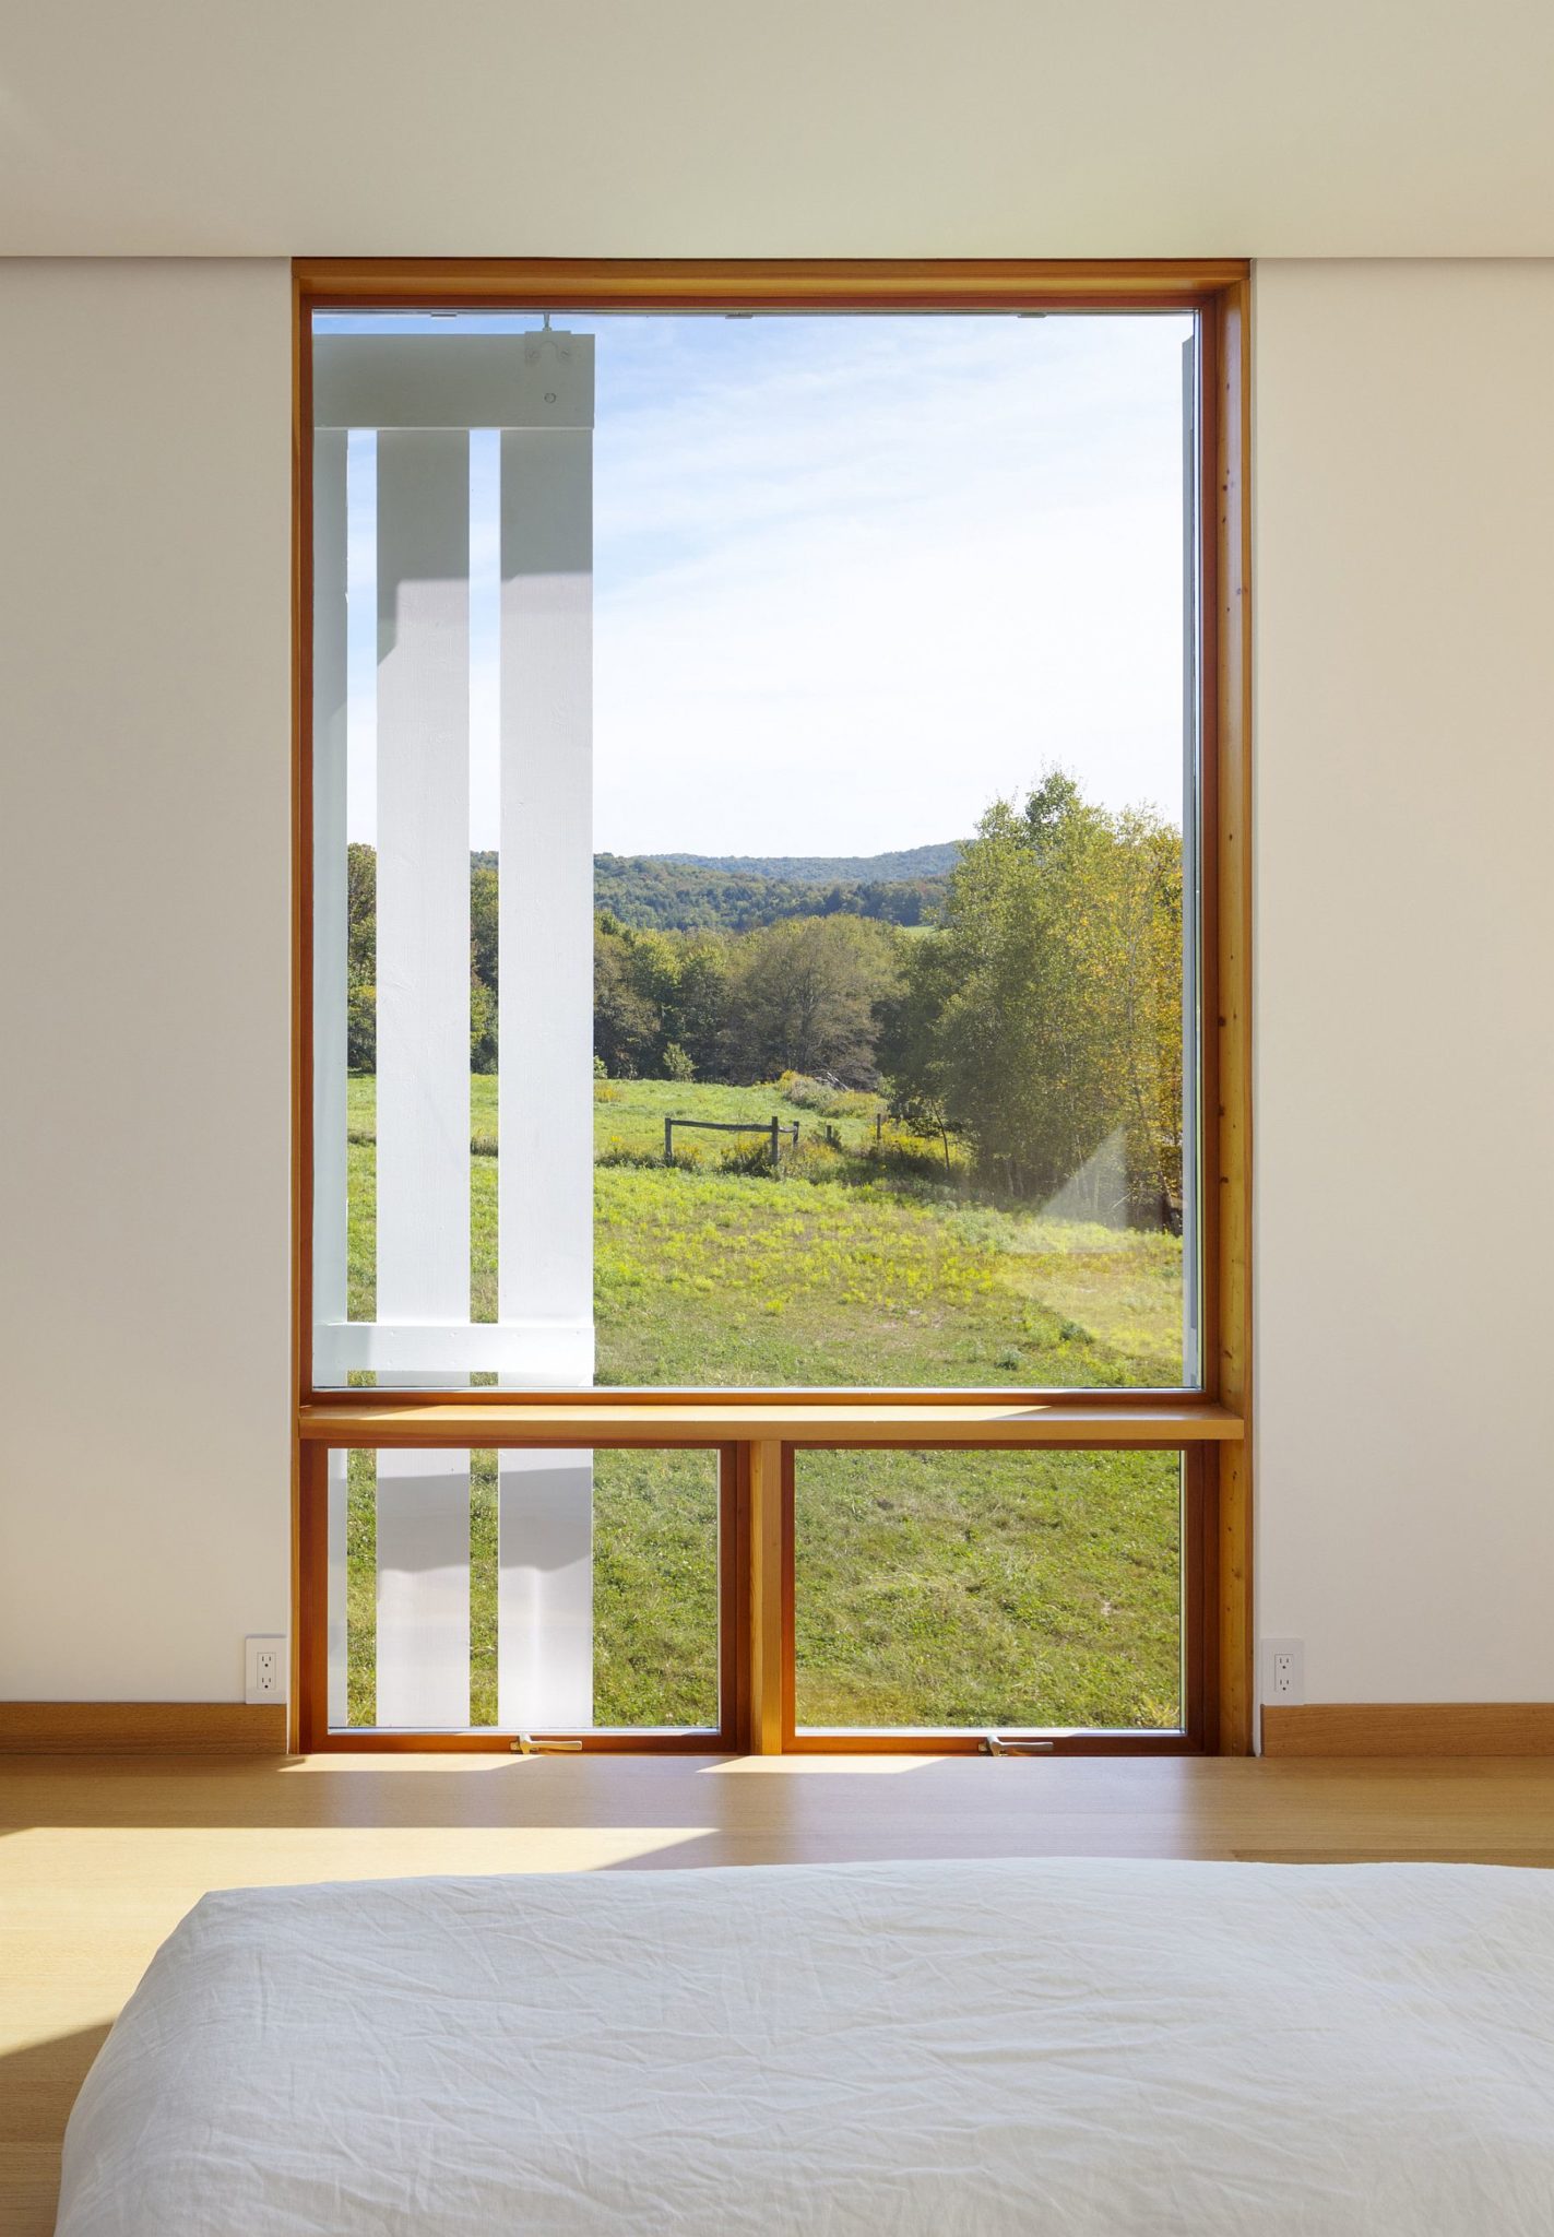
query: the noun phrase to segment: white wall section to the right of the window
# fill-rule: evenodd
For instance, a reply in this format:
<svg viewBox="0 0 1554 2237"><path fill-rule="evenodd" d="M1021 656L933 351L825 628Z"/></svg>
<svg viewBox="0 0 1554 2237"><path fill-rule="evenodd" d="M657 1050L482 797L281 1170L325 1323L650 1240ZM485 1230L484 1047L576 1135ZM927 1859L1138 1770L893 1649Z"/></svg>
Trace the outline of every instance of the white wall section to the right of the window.
<svg viewBox="0 0 1554 2237"><path fill-rule="evenodd" d="M1257 271L1257 1593L1554 1696L1554 264Z"/></svg>

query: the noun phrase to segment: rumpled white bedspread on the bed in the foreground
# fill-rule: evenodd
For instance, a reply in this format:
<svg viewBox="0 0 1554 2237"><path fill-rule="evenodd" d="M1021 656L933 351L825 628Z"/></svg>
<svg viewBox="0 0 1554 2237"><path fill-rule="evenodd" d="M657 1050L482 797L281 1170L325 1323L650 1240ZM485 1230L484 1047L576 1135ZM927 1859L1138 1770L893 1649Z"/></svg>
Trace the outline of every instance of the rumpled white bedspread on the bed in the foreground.
<svg viewBox="0 0 1554 2237"><path fill-rule="evenodd" d="M1554 1875L865 1863L208 1895L63 2237L1550 2237Z"/></svg>

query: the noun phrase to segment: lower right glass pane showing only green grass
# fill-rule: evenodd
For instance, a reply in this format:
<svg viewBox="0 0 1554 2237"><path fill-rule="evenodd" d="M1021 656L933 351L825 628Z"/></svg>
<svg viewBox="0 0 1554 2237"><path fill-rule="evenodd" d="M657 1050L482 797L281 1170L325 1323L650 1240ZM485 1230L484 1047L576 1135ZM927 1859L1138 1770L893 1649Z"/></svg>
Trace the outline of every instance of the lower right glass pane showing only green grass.
<svg viewBox="0 0 1554 2237"><path fill-rule="evenodd" d="M1183 1725L1178 1452L798 1452L798 1727Z"/></svg>

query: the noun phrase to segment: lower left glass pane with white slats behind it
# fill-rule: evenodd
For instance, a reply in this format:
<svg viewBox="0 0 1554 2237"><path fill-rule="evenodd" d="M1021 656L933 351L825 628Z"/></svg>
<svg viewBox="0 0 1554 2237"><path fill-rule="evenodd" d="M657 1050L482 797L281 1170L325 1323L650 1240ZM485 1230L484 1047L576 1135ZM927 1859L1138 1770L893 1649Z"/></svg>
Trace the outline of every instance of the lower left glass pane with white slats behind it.
<svg viewBox="0 0 1554 2237"><path fill-rule="evenodd" d="M351 1452L331 1476L349 1727L718 1729L716 1452Z"/></svg>

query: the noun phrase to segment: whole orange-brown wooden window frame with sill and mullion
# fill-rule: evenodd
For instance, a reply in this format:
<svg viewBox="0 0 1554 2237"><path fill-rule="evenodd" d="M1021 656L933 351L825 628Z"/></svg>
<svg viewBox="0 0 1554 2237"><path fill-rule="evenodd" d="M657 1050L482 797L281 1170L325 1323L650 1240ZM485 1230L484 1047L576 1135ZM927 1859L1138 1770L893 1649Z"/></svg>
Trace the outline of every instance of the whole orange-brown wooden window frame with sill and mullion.
<svg viewBox="0 0 1554 2237"><path fill-rule="evenodd" d="M315 311L1187 311L1201 320L1201 1387L1165 1391L579 1389L313 1385L311 318ZM293 264L293 1747L492 1749L505 1731L344 1734L324 1720L322 1467L333 1447L718 1445L722 1729L584 1747L961 1754L977 1736L805 1736L792 1725L798 1445L1181 1447L1185 1734L1055 1734L1069 1752L1252 1749L1250 266L1245 262L302 259ZM1198 1673L1196 1678L1192 1673Z"/></svg>

